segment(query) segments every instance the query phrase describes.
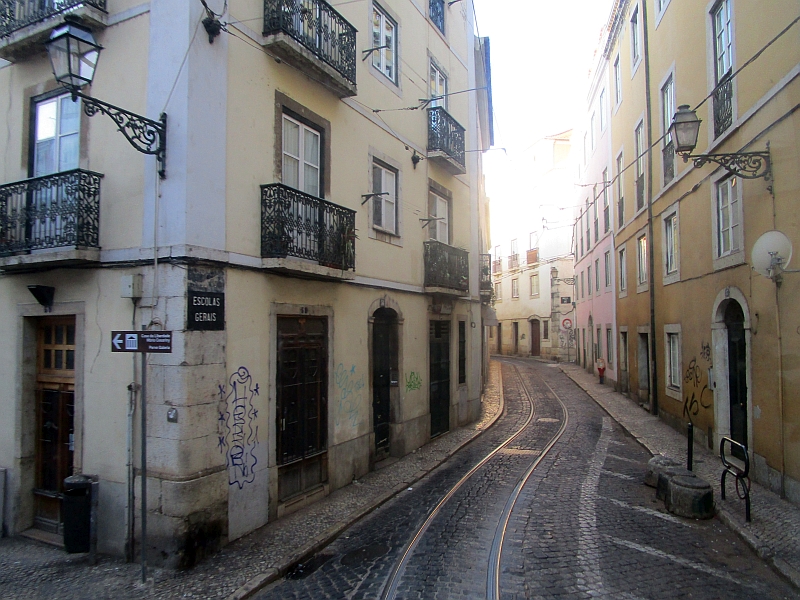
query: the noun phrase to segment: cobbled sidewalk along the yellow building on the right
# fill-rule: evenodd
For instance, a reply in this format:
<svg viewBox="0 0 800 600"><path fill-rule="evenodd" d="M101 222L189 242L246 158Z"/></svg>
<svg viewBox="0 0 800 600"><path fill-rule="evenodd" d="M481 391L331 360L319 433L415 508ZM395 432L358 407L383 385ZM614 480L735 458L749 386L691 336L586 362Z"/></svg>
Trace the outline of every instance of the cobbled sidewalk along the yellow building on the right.
<svg viewBox="0 0 800 600"><path fill-rule="evenodd" d="M564 363L559 367L652 454L663 454L679 464L686 464L685 435L612 388L601 385L581 367ZM730 476L726 480L726 500L721 498L722 465L718 455L695 444L693 470L711 484L720 520L800 589L800 507L781 500L777 494L753 482L750 489L752 521L747 523L744 500L736 495Z"/></svg>

